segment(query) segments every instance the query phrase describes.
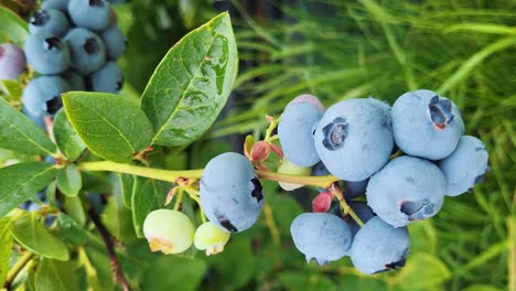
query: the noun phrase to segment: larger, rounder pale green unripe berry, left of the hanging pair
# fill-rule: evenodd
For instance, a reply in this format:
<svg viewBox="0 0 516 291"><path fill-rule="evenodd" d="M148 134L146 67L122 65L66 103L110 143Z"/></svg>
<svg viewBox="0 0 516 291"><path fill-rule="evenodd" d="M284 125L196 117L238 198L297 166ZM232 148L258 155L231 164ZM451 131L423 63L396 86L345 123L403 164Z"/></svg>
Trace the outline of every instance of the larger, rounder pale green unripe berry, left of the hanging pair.
<svg viewBox="0 0 516 291"><path fill-rule="evenodd" d="M181 212L158 209L149 213L143 222L143 235L152 251L183 252L192 246L194 226Z"/></svg>

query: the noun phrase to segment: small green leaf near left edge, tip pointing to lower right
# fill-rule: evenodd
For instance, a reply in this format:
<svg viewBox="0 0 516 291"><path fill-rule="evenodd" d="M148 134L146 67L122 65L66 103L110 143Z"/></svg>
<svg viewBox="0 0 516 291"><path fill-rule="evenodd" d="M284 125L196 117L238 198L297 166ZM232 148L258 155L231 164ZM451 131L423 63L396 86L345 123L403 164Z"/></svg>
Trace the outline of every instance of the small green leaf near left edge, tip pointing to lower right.
<svg viewBox="0 0 516 291"><path fill-rule="evenodd" d="M24 248L45 258L63 261L69 258L65 244L54 237L43 223L37 220L36 213L26 213L13 220L12 234Z"/></svg>

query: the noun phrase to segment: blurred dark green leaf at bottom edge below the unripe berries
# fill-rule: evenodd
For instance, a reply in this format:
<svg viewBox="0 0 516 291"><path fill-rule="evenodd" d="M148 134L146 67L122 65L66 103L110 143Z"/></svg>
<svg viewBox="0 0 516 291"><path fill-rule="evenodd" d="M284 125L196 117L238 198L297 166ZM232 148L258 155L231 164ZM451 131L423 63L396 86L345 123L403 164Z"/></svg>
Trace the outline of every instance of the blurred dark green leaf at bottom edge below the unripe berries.
<svg viewBox="0 0 516 291"><path fill-rule="evenodd" d="M206 270L202 260L162 256L147 269L141 287L142 290L198 290Z"/></svg>

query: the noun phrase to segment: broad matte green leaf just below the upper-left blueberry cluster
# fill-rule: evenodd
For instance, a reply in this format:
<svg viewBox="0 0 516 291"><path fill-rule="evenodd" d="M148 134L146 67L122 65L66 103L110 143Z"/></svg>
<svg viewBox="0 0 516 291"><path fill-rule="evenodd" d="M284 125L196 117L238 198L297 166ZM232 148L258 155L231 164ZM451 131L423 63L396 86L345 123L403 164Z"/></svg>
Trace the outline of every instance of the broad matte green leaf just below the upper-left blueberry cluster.
<svg viewBox="0 0 516 291"><path fill-rule="evenodd" d="M152 126L141 109L119 95L69 91L63 94L69 122L88 149L114 162L129 162L131 155L151 143Z"/></svg>

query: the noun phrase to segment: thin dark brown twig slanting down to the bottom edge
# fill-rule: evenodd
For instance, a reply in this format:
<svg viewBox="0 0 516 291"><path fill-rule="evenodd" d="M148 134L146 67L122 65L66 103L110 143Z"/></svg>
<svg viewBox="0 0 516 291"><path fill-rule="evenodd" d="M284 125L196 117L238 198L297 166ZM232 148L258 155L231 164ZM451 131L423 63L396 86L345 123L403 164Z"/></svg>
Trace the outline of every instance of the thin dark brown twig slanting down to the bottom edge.
<svg viewBox="0 0 516 291"><path fill-rule="evenodd" d="M111 272L112 272L112 280L115 282L120 283L123 291L129 291L129 282L127 282L126 277L123 276L123 271L121 269L120 263L118 262L117 254L115 252L115 242L111 238L111 235L104 226L103 222L98 214L94 211L93 207L88 209L88 216L92 222L95 224L95 227L98 229L98 233L104 239L104 244L106 245L106 249L109 256L109 261L111 262Z"/></svg>

